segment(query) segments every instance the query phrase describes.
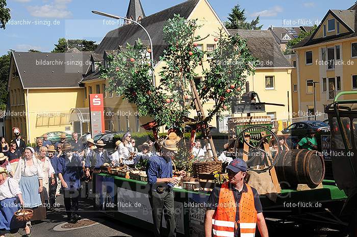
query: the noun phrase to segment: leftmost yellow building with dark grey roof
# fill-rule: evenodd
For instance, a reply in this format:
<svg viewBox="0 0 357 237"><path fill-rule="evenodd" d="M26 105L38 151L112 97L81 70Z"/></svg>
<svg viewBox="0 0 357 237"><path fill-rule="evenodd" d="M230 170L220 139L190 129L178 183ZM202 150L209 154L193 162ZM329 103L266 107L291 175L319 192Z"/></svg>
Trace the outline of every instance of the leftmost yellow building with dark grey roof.
<svg viewBox="0 0 357 237"><path fill-rule="evenodd" d="M79 81L86 73L90 52L79 54L12 52L8 82L7 140L11 127L35 142L48 131L71 133L69 112L84 105Z"/></svg>

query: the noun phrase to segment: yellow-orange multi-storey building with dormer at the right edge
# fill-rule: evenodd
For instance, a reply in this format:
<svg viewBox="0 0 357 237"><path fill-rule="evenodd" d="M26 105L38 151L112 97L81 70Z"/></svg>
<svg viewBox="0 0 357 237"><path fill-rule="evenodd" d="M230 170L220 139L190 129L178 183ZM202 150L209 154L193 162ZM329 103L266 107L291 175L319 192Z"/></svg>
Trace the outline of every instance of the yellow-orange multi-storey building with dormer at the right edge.
<svg viewBox="0 0 357 237"><path fill-rule="evenodd" d="M316 114L323 113L338 92L357 90L356 12L357 4L329 10L316 31L293 47L297 66L293 101L299 116L314 114L314 85Z"/></svg>

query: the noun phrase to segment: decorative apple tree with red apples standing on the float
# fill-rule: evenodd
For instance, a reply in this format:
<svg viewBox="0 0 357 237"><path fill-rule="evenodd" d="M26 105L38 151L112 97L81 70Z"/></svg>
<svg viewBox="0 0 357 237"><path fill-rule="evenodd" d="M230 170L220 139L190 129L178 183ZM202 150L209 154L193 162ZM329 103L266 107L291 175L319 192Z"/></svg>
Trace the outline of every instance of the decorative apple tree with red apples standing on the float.
<svg viewBox="0 0 357 237"><path fill-rule="evenodd" d="M100 68L101 77L109 80L108 91L136 104L142 116L153 118L158 126L173 128L179 136L183 136L186 125L208 124L214 116L229 110L228 98L239 96L246 76L254 73L254 58L244 39L228 36L223 30L214 38L217 47L213 51L199 49L198 42L208 37L195 35L199 27L196 20L179 15L167 21L163 37L168 46L160 58L165 66L157 87L152 84L152 62L146 55L151 48L143 49L140 39L110 56L108 67ZM204 65L205 61L209 65ZM202 80L194 82L198 69ZM193 87L197 88L199 104L214 100L212 109L205 116L198 114L197 121L186 119L190 111L198 111ZM179 152L182 162L176 162L176 166L189 170L190 146L183 144Z"/></svg>

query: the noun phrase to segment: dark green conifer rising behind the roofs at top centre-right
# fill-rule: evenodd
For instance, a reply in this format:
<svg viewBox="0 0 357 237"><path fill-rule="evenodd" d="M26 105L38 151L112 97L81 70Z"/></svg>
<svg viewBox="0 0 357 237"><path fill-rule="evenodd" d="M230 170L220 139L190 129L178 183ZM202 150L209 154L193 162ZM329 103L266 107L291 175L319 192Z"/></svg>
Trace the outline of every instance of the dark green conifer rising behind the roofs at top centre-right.
<svg viewBox="0 0 357 237"><path fill-rule="evenodd" d="M263 27L263 25L257 26L260 21L259 16L257 16L256 19L247 22L245 9L241 10L239 4L232 9L232 13L230 13L229 16L229 22L225 23L225 27L228 29L261 30Z"/></svg>

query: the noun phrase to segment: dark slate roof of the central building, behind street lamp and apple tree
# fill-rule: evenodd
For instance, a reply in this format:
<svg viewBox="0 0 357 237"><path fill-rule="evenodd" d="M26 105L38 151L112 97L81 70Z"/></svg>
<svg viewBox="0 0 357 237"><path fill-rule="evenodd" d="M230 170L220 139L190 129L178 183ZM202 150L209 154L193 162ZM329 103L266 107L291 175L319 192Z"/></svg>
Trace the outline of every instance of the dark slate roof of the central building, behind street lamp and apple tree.
<svg viewBox="0 0 357 237"><path fill-rule="evenodd" d="M148 31L152 39L154 60L159 61L163 50L167 47L163 39L163 27L166 21L173 18L174 14L180 14L181 17L188 18L199 0L189 0L179 5L173 6L161 12L152 14L141 19L141 24ZM107 33L100 42L96 53L103 53L104 50L115 50L126 43L134 44L138 38L147 40L146 33L136 24L122 25L121 27Z"/></svg>

